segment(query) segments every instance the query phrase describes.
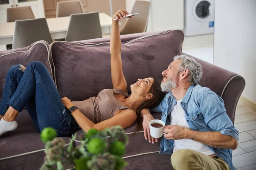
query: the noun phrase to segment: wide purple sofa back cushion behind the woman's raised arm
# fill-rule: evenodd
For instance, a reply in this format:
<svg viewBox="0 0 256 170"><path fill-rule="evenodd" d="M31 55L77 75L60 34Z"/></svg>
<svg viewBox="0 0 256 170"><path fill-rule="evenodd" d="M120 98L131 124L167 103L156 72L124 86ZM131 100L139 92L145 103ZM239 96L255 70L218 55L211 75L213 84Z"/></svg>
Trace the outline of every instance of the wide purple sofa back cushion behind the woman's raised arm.
<svg viewBox="0 0 256 170"><path fill-rule="evenodd" d="M162 80L161 72L174 56L181 54L183 39L182 31L173 30L122 42L122 67L128 92L138 78ZM61 97L84 100L97 96L105 88L113 88L109 42L57 41L50 45L50 51Z"/></svg>

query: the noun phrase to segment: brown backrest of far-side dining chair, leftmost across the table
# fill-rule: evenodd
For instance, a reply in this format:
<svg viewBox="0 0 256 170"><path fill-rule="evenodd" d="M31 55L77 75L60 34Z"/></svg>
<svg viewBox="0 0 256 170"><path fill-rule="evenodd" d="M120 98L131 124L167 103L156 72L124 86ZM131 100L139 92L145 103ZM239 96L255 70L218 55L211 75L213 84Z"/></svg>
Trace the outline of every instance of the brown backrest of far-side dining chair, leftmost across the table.
<svg viewBox="0 0 256 170"><path fill-rule="evenodd" d="M7 8L7 22L35 18L30 6Z"/></svg>

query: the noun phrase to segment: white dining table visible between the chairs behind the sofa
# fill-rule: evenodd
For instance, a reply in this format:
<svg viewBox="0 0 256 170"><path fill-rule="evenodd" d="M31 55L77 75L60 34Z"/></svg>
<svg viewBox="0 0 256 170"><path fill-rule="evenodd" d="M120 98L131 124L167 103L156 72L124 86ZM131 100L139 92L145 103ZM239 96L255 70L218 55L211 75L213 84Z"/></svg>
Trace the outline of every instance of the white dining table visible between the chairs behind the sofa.
<svg viewBox="0 0 256 170"><path fill-rule="evenodd" d="M66 38L69 17L47 18L47 24L52 40ZM111 33L112 17L105 13L99 13L99 21L102 34ZM15 22L0 23L0 45L12 44Z"/></svg>

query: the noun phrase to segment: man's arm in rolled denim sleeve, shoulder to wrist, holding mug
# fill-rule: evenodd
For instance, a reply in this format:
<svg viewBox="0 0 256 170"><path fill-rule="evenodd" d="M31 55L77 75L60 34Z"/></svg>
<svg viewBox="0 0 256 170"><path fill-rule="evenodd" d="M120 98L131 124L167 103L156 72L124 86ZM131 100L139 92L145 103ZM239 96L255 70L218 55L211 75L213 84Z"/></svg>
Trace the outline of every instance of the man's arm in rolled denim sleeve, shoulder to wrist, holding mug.
<svg viewBox="0 0 256 170"><path fill-rule="evenodd" d="M193 133L194 137L192 139L206 143L208 146L214 145L218 148L236 149L239 132L226 113L223 99L213 91L205 91L201 97L200 108L204 116L204 122L213 132Z"/></svg>

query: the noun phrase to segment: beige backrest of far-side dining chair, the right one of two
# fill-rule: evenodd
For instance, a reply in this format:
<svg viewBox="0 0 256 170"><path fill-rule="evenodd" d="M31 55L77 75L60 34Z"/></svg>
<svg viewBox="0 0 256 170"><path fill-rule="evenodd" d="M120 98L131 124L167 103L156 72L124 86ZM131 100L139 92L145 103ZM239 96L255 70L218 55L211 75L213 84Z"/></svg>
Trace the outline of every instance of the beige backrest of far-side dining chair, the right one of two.
<svg viewBox="0 0 256 170"><path fill-rule="evenodd" d="M80 0L61 1L57 3L56 17L67 17L71 14L84 13Z"/></svg>

